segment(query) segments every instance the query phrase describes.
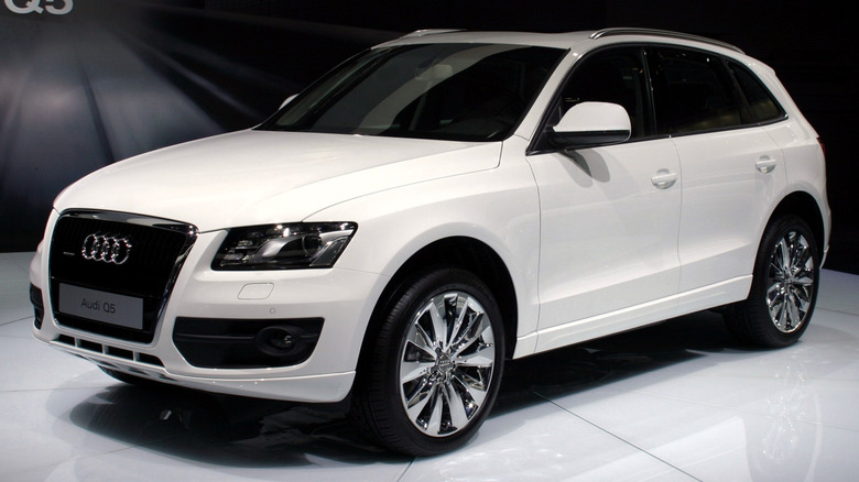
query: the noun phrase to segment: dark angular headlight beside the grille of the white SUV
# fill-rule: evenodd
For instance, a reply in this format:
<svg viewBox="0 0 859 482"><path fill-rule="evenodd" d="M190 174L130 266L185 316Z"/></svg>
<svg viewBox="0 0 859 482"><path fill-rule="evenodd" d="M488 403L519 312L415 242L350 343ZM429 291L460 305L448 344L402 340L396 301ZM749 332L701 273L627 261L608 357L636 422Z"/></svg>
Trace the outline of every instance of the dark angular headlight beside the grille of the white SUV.
<svg viewBox="0 0 859 482"><path fill-rule="evenodd" d="M213 270L331 267L358 226L296 222L230 229Z"/></svg>

